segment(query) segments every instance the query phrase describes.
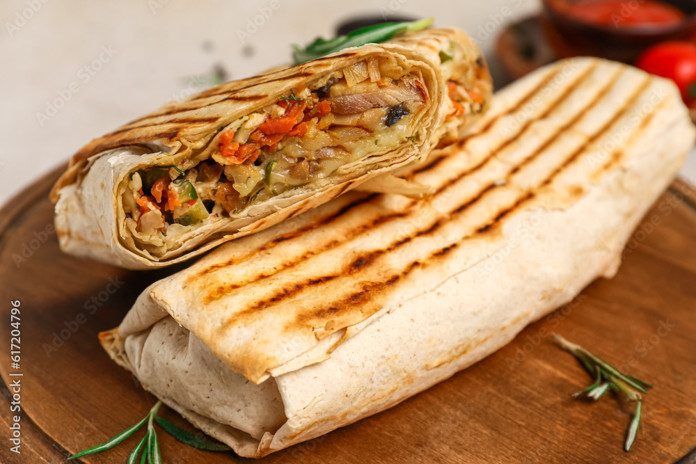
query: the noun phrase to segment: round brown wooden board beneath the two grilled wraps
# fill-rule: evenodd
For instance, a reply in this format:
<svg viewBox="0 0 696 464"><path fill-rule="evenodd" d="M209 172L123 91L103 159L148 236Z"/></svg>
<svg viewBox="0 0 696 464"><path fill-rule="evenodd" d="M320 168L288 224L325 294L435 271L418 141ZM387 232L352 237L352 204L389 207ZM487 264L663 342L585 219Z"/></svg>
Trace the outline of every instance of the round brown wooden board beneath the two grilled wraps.
<svg viewBox="0 0 696 464"><path fill-rule="evenodd" d="M47 200L57 175L35 182L0 214L3 463L63 463L135 424L156 401L109 360L97 333L117 326L141 290L173 270L123 271L63 255ZM21 301L19 369L9 357L15 300ZM551 342L552 331L654 383L630 453L622 443L633 405L610 395L597 403L572 399L590 378ZM21 455L8 444L16 414L8 385L17 378ZM167 408L161 415L195 430ZM165 463L253 461L198 451L163 431L158 436ZM82 462L123 463L136 442L131 437ZM696 191L677 180L629 241L614 279L594 282L448 381L260 462L693 463L695 445Z"/></svg>

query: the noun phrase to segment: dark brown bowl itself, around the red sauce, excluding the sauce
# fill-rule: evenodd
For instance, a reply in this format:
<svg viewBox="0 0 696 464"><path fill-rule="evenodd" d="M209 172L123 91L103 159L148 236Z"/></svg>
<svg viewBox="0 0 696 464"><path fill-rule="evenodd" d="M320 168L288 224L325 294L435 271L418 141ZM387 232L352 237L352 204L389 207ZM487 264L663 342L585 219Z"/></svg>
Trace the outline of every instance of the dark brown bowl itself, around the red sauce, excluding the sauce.
<svg viewBox="0 0 696 464"><path fill-rule="evenodd" d="M587 0L542 0L546 17L565 45L575 54L593 54L632 63L641 51L665 40L691 38L696 30L696 0L661 0L682 10L684 17L678 24L645 26L602 26L583 22L569 15L568 3ZM592 1L592 0L590 0ZM640 0L626 0L626 8L638 5ZM553 35L552 33L552 35ZM552 42L553 45L553 42Z"/></svg>

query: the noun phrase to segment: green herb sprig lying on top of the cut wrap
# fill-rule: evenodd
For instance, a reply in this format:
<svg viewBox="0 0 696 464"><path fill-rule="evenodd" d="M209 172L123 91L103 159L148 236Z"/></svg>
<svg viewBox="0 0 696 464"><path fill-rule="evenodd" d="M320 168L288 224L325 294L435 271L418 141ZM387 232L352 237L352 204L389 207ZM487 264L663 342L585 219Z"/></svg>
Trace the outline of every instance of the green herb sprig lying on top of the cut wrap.
<svg viewBox="0 0 696 464"><path fill-rule="evenodd" d="M315 60L349 47L360 47L369 43L384 42L402 33L419 31L420 29L425 29L432 22L432 18L413 22L383 22L356 29L347 35L339 35L331 40L319 37L304 48L299 45L293 45L292 58L294 64L299 65L305 61Z"/></svg>

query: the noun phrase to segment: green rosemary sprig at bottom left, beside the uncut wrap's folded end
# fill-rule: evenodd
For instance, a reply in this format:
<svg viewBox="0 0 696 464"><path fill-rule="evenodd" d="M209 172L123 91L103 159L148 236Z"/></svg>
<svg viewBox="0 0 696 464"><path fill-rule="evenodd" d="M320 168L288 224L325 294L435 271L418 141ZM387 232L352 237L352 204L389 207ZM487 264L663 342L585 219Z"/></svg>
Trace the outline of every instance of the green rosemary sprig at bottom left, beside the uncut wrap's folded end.
<svg viewBox="0 0 696 464"><path fill-rule="evenodd" d="M157 440L155 422L157 422L157 424L162 429L164 429L164 431L172 435L178 441L184 443L184 445L189 445L197 449L204 449L205 451L230 451L231 448L223 443L214 442L212 440L207 440L205 438L193 435L192 433L189 433L184 429L175 426L168 420L162 419L161 417L157 416L157 411L159 410L160 406L162 406L162 402L157 401L157 403L155 403L155 406L152 406L152 409L150 409L148 415L143 417L143 420L141 420L134 426L129 427L125 431L122 431L106 443L102 443L102 445L98 445L93 448L81 451L78 454L70 456L70 458L68 459L81 458L82 456L86 456L88 454L100 453L102 451L106 451L107 449L111 449L123 440L125 440L126 438L128 438L129 436L133 435L144 424L148 424L145 436L143 436L143 439L140 440L138 445L136 445L133 451L131 451L131 454L128 456L127 462L128 464L136 464L136 462L138 461L138 456L141 456L142 453L140 461L141 464L144 464L145 462L148 462L150 464L161 464L162 456L159 452L159 440Z"/></svg>

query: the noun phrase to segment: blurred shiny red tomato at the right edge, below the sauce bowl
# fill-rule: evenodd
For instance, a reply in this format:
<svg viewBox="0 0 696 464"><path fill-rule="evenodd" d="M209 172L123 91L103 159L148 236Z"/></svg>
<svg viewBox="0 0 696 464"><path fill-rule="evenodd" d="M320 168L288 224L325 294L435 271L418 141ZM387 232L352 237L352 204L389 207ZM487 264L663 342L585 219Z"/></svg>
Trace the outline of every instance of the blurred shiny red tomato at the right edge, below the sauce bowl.
<svg viewBox="0 0 696 464"><path fill-rule="evenodd" d="M663 42L650 47L638 58L635 65L657 76L672 79L684 103L690 105L696 99L696 44L692 42Z"/></svg>

